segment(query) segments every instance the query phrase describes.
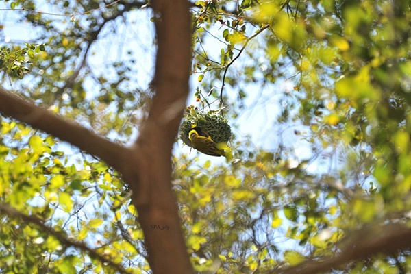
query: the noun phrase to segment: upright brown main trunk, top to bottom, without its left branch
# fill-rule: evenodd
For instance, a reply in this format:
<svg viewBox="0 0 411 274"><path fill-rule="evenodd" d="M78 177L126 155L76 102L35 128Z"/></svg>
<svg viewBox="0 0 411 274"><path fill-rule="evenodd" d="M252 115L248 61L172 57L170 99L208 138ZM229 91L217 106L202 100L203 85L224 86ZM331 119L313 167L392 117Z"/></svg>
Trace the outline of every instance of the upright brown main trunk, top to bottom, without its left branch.
<svg viewBox="0 0 411 274"><path fill-rule="evenodd" d="M155 0L158 51L149 116L134 145L134 165L124 177L145 234L154 273L192 273L171 188L171 149L188 95L191 66L190 13L186 0ZM136 182L136 183L135 183ZM155 229L153 225L169 229Z"/></svg>

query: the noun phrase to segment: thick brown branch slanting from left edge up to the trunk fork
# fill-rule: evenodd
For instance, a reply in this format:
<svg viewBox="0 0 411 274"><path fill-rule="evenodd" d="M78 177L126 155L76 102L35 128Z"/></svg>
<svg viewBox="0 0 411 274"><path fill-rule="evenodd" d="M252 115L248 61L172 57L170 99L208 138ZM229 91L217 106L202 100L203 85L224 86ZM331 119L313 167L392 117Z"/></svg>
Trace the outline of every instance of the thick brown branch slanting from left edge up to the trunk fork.
<svg viewBox="0 0 411 274"><path fill-rule="evenodd" d="M40 129L96 155L115 169L120 169L125 147L110 142L90 130L29 103L0 87L0 112Z"/></svg>

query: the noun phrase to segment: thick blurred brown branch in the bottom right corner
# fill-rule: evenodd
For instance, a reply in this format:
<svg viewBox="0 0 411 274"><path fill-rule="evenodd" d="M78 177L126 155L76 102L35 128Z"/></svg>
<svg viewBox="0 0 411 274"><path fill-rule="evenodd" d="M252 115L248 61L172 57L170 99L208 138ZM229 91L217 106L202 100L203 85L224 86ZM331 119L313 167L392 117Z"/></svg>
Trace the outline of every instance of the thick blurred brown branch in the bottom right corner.
<svg viewBox="0 0 411 274"><path fill-rule="evenodd" d="M341 242L340 253L327 260L303 262L287 269L273 271L281 274L315 274L323 273L342 264L361 260L377 253L393 253L399 249L411 247L411 229L400 223L374 225L356 232Z"/></svg>

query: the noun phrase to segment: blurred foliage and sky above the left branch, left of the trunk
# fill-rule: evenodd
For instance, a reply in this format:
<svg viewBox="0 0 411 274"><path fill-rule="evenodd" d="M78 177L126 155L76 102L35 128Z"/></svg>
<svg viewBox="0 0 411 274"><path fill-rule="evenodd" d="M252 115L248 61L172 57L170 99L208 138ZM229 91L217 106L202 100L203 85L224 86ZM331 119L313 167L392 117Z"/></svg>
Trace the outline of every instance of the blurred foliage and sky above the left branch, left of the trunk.
<svg viewBox="0 0 411 274"><path fill-rule="evenodd" d="M36 1L8 4L15 9L8 13L12 14L15 27L24 28L19 39L36 42L26 47L19 40L1 42L1 60L8 55L14 60L14 66L1 66L2 82L8 82L10 76L24 75L24 81L9 79L19 95L100 134L119 132L116 140L127 142L128 136L136 133L133 124L141 119L141 114L134 112L145 110L151 98L148 85L142 84L143 80L135 81L134 75L145 73L137 64L145 61L134 54L134 29L125 29L132 21L127 12L139 12L136 9L144 3L120 1L106 8L99 1L50 1L45 6ZM7 18L0 23L4 37L10 37L5 32L9 21ZM131 42L112 42L125 39L125 32ZM97 55L105 58L98 59Z"/></svg>

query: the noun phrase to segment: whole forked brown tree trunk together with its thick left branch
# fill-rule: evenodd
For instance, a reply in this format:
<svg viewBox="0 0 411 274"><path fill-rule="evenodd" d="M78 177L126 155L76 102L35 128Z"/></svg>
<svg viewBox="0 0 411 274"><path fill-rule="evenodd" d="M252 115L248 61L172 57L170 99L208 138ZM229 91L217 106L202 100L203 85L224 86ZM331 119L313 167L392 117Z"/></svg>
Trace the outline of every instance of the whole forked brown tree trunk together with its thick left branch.
<svg viewBox="0 0 411 274"><path fill-rule="evenodd" d="M84 149L122 173L145 234L153 273L192 273L171 186L171 149L188 96L190 12L186 0L152 3L158 37L153 97L147 121L130 149L27 103L0 88L0 112ZM155 225L168 227L155 229Z"/></svg>

